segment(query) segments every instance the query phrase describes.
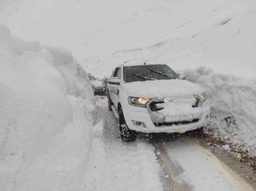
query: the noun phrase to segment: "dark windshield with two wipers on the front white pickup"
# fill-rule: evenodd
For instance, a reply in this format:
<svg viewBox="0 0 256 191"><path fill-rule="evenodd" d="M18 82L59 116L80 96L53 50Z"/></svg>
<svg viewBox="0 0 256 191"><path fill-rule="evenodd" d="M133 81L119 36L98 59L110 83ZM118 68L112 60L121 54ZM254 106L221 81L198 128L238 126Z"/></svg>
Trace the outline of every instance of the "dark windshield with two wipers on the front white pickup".
<svg viewBox="0 0 256 191"><path fill-rule="evenodd" d="M134 74L143 76L145 79ZM146 81L147 78L155 80L171 80L174 78L179 78L179 76L167 65L140 65L124 67L124 81L126 82Z"/></svg>

